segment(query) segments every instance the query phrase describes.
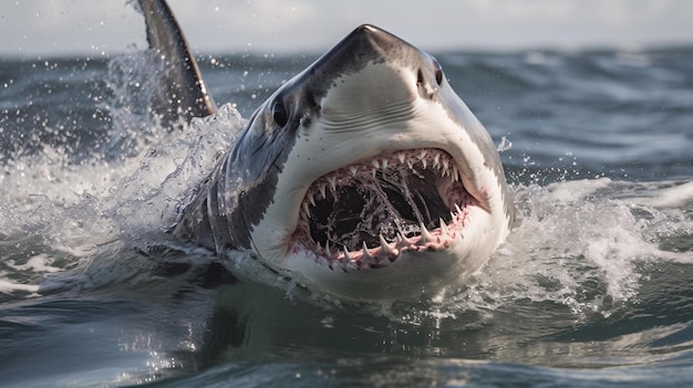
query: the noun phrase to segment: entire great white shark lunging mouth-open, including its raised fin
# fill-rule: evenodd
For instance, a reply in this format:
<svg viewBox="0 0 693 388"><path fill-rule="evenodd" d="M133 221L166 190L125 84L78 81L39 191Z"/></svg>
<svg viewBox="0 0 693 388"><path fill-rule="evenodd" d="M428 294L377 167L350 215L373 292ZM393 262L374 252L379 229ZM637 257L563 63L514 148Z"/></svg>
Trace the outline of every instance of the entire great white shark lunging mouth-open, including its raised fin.
<svg viewBox="0 0 693 388"><path fill-rule="evenodd" d="M216 112L165 1L139 1L166 64L156 111ZM363 24L250 116L172 233L249 251L316 293L416 298L478 271L516 220L488 132L430 54Z"/></svg>

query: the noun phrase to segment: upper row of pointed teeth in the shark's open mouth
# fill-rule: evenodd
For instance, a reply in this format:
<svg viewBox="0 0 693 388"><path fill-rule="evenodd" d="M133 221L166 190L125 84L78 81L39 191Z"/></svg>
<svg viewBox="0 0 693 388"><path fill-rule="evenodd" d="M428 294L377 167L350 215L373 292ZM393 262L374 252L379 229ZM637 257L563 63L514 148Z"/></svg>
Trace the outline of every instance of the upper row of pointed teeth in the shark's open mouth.
<svg viewBox="0 0 693 388"><path fill-rule="evenodd" d="M371 172L371 175L375 177L375 172L379 169L386 169L390 162L394 160L399 160L401 165L406 164L410 169L413 169L416 164L421 164L423 168L426 168L428 164L431 164L433 168L441 170L441 176L449 177L453 182L461 179L457 166L451 160L451 157L439 150L432 149L397 151L393 155L374 158L370 162L349 166L345 170L351 174L351 177L363 172ZM318 193L320 193L321 198L327 198L328 187L332 190L332 193L337 192L338 174L339 172L332 172L319 179L313 186L317 187L317 190L309 190L306 193L306 201L303 201L303 210L306 212L308 212L309 203L316 206L316 196Z"/></svg>

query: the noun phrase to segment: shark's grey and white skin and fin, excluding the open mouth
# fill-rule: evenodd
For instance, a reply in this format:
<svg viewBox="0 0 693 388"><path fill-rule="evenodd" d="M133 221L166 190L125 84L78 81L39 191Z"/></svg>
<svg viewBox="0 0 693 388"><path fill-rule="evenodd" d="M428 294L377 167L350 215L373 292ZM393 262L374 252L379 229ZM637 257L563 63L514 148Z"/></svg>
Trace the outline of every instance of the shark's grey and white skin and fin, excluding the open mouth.
<svg viewBox="0 0 693 388"><path fill-rule="evenodd" d="M162 98L159 103L169 104L155 112L170 118L175 114L184 117L213 114L214 103L170 10L164 1L141 0L141 4L152 49L172 64L165 93L180 97ZM387 85L392 86L391 91ZM335 104L340 98L343 104ZM426 109L437 113L431 116L427 112L420 115L379 112L373 120L377 128L359 127L364 122L359 118L360 111L377 111L379 104L391 101L412 109L415 104L427 104L433 108ZM329 123L335 123L334 112L340 109L355 118L339 130L328 129ZM422 123L438 123L443 135L434 134L427 139L424 133L437 128L422 129L428 125ZM353 138L365 135L372 136L373 141ZM353 143L354 148L340 154L338 149L345 148L345 143ZM306 148L306 144L316 146ZM330 147L337 148L325 153ZM410 245L397 245L401 253L396 259L390 258L391 262L396 261L397 265L390 265L394 270L363 271L361 277L350 274L354 263L359 264L358 270L362 268L356 260L351 261L352 266L348 265L349 252L339 258L327 256L313 242L297 245L293 239L299 230L299 212L301 205L306 206L311 182L354 164L420 148L442 149L452 155L464 189L474 198L474 206L465 209L472 221L465 223L482 220L479 230L461 230L459 235L454 235L456 240L445 247L444 239L439 239L439 245L426 245L424 239L414 237ZM302 165L306 153L314 153L314 160L320 161ZM228 154L199 185L172 232L217 253L250 251L276 272L339 297L382 300L416 297L423 289L439 290L478 270L503 242L515 220L511 191L495 145L449 87L437 62L399 38L364 24L260 105ZM463 234L475 241L461 242ZM385 251L385 245L381 247ZM376 256L373 263L377 264L381 252L373 249L370 253ZM363 256L370 253L364 248ZM436 262L441 256L444 260ZM342 263L346 275L333 271L335 261ZM327 268L329 271L323 272Z"/></svg>

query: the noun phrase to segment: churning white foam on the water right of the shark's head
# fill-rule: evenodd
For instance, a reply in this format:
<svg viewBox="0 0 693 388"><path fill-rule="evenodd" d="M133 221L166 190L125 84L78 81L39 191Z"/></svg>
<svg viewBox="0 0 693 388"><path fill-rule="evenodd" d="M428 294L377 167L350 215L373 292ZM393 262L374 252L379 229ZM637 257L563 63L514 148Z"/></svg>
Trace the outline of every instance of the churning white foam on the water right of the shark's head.
<svg viewBox="0 0 693 388"><path fill-rule="evenodd" d="M472 282L453 292L457 308L488 311L530 300L561 303L577 314L609 315L637 300L647 280L640 263L693 263L692 252L660 248L666 233L692 234L691 221L679 217L685 203L690 211L689 185L654 195L656 205L676 207L671 212L623 196L648 192L650 185L596 179L520 187L521 226ZM669 201L670 190L674 201Z"/></svg>

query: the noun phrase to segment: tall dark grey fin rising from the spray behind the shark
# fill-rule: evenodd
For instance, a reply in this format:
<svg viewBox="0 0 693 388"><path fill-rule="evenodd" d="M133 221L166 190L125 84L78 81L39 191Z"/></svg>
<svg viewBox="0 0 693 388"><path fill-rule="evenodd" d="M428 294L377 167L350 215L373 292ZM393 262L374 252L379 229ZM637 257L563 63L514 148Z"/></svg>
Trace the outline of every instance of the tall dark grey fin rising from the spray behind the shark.
<svg viewBox="0 0 693 388"><path fill-rule="evenodd" d="M164 63L162 86L152 111L164 123L205 117L217 112L176 18L164 0L139 0L149 49Z"/></svg>

